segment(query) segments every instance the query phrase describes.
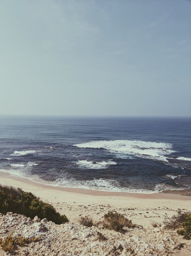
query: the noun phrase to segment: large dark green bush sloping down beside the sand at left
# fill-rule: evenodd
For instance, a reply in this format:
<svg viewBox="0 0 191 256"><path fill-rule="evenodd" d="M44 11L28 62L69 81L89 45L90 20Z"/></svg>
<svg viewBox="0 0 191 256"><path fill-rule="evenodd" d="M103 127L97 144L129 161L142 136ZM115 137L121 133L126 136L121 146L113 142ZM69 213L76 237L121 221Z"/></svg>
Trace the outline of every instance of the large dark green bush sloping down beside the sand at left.
<svg viewBox="0 0 191 256"><path fill-rule="evenodd" d="M8 211L23 214L33 219L36 215L47 218L56 224L68 222L65 215L60 215L52 205L44 203L30 192L24 192L21 188L13 188L0 185L0 212L6 214Z"/></svg>

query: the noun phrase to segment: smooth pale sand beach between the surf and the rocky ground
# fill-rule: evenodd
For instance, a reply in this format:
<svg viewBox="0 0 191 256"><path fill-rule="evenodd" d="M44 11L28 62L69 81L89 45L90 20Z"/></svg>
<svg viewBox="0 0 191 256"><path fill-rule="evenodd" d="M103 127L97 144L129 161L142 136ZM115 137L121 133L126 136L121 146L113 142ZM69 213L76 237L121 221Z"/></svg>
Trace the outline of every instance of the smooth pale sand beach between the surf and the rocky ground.
<svg viewBox="0 0 191 256"><path fill-rule="evenodd" d="M5 172L0 172L0 184L32 192L43 201L51 203L58 212L65 214L75 223L78 222L79 216L90 215L94 220L101 220L105 213L116 210L131 219L133 223L146 227L150 226L152 221L161 223L165 217L171 217L178 209L191 211L191 197L181 195L53 187Z"/></svg>

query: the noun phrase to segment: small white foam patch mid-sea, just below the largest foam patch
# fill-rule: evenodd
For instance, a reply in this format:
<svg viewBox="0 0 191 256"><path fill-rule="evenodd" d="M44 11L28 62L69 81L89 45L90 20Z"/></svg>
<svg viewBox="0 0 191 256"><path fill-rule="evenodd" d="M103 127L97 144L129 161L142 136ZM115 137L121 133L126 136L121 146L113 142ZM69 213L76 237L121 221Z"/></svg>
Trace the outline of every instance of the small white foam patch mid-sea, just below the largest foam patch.
<svg viewBox="0 0 191 256"><path fill-rule="evenodd" d="M112 160L108 160L108 161L102 161L102 162L93 162L93 161L87 161L87 160L78 160L78 162L76 162L76 164L80 167L80 168L87 168L87 169L106 169L108 168L108 166L110 165L116 165L117 163L112 161Z"/></svg>

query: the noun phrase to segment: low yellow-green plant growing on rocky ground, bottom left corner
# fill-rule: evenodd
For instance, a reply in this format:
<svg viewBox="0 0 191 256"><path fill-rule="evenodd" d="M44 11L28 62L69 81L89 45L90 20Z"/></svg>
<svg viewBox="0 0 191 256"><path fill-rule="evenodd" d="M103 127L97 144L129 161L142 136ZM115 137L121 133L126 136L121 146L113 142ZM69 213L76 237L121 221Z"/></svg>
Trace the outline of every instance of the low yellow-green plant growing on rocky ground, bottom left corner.
<svg viewBox="0 0 191 256"><path fill-rule="evenodd" d="M25 238L23 236L15 236L13 237L12 234L9 234L6 238L0 238L0 246L4 251L11 252L15 249L16 245L23 246L24 244L29 244L31 242L39 241L40 236L32 237L32 238Z"/></svg>

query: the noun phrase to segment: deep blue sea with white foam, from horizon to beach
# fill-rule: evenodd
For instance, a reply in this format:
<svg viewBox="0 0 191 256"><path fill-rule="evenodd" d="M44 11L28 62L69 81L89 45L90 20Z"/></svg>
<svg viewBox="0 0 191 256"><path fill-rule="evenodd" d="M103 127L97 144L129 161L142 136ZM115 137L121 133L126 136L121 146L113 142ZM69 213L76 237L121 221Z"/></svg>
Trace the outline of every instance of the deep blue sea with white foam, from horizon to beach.
<svg viewBox="0 0 191 256"><path fill-rule="evenodd" d="M191 118L1 116L0 171L106 191L190 188Z"/></svg>

